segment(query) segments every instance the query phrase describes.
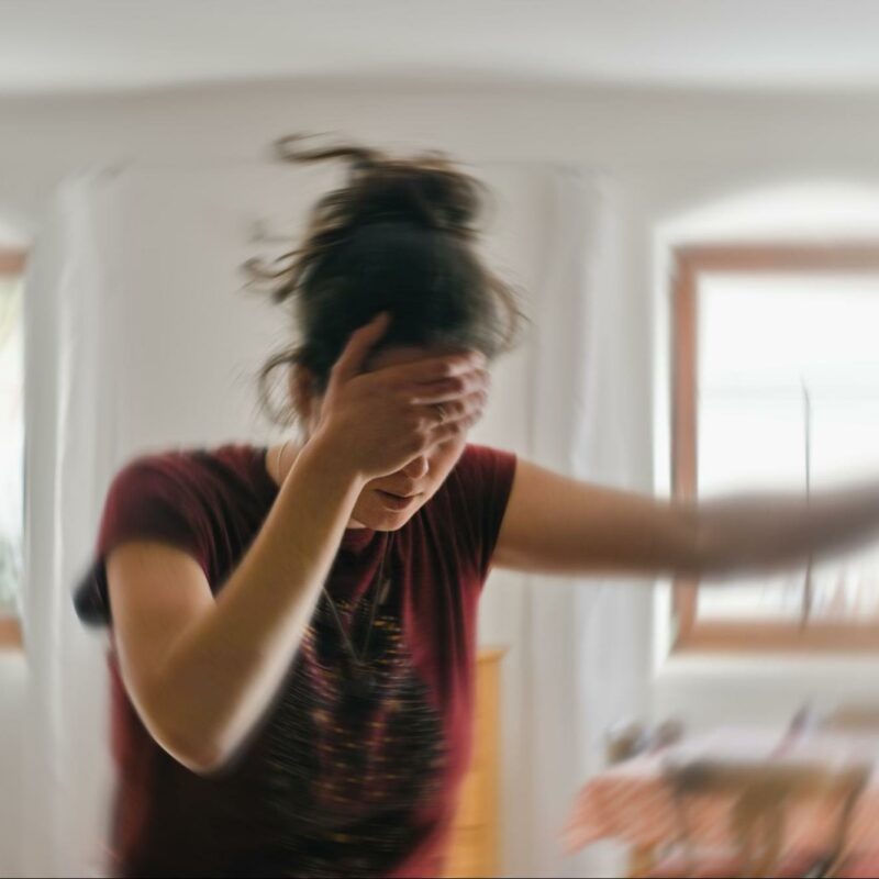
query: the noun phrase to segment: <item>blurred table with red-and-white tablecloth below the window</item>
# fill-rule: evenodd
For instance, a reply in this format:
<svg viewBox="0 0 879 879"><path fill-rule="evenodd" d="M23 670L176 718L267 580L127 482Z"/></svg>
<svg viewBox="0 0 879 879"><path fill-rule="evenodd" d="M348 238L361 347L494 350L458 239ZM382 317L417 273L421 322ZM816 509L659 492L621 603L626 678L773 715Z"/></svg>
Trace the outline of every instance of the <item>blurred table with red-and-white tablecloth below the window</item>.
<svg viewBox="0 0 879 879"><path fill-rule="evenodd" d="M737 875L728 871L730 858L742 866L745 854L777 868L767 875L802 868L792 875L822 876L831 860L846 865L836 875L849 875L856 858L861 867L879 863L878 765L876 731L719 728L590 779L567 843L571 849L605 838L627 843L642 854L632 876L702 875L686 871L685 856L705 849L717 853L712 864L725 870L713 875ZM652 874L657 859L672 854L677 861L660 859L666 871Z"/></svg>

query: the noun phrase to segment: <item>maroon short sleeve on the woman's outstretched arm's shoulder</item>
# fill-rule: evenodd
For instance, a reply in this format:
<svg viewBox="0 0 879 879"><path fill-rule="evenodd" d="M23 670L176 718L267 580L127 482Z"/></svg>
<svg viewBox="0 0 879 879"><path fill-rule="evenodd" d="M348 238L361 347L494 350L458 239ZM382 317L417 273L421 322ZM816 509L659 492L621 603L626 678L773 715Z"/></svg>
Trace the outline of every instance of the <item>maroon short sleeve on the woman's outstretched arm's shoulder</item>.
<svg viewBox="0 0 879 879"><path fill-rule="evenodd" d="M458 515L466 524L482 579L491 567L515 467L512 452L468 444L454 470Z"/></svg>

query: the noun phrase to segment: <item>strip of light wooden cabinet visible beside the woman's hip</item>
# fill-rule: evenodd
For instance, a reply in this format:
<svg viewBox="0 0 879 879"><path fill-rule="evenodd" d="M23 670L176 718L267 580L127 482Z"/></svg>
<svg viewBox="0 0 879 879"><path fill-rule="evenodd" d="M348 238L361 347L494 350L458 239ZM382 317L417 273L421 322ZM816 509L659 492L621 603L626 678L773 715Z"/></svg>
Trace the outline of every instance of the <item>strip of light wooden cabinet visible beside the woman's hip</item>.
<svg viewBox="0 0 879 879"><path fill-rule="evenodd" d="M480 650L476 678L474 756L461 786L445 876L492 877L500 872L500 660L503 650Z"/></svg>

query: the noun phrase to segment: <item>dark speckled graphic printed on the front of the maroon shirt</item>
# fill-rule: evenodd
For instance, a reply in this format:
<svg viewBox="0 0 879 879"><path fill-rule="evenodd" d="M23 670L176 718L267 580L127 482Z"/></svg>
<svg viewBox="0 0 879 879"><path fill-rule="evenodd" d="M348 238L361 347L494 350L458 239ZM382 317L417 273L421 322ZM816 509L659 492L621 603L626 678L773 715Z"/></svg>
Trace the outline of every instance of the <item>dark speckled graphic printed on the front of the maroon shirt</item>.
<svg viewBox="0 0 879 879"><path fill-rule="evenodd" d="M368 611L336 608L359 653ZM421 808L442 795L442 721L397 613L376 614L369 645L371 686L358 687L323 596L262 739L263 793L279 828L272 860L286 875L383 875L418 846Z"/></svg>

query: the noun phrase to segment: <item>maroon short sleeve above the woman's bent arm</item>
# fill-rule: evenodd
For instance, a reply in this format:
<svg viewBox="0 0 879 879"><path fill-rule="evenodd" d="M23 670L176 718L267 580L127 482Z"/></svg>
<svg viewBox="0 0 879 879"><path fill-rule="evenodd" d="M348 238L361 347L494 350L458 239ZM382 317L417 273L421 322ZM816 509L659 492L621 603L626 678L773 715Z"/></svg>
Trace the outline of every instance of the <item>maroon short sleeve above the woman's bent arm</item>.
<svg viewBox="0 0 879 879"><path fill-rule="evenodd" d="M141 458L120 470L104 501L94 559L74 604L89 624L111 622L104 561L129 541L166 543L190 554L209 576L210 527L179 454Z"/></svg>

